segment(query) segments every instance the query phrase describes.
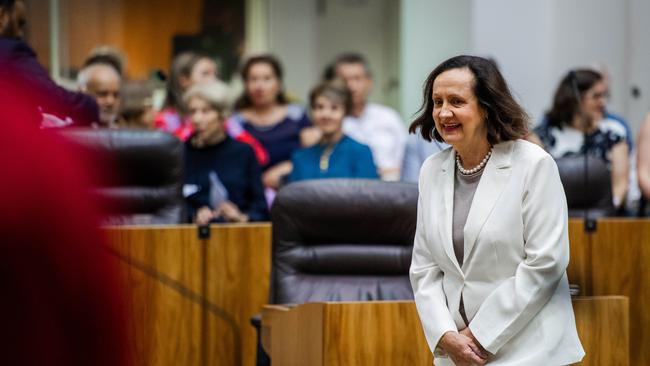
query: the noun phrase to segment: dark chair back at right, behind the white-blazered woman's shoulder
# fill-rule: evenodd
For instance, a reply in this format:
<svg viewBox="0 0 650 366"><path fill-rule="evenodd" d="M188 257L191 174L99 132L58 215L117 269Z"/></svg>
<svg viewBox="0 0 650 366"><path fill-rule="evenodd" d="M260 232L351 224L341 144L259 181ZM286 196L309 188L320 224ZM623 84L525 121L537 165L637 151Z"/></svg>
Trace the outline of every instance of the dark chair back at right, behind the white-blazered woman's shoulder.
<svg viewBox="0 0 650 366"><path fill-rule="evenodd" d="M584 155L571 155L556 159L560 179L569 206L569 217L615 216L612 203L612 176L602 159ZM585 171L587 176L585 177Z"/></svg>

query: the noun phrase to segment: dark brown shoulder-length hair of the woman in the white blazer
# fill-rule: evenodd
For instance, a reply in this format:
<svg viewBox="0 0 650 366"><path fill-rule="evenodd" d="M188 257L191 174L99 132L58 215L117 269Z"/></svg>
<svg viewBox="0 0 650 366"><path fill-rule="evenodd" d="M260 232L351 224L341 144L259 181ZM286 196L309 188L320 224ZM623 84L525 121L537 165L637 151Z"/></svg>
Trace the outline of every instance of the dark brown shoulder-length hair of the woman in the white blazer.
<svg viewBox="0 0 650 366"><path fill-rule="evenodd" d="M528 115L513 98L494 61L465 55L444 61L429 74L424 83L422 106L409 132L415 133L419 128L425 140L443 141L433 120L433 82L445 71L462 68L474 75L474 95L487 115L488 142L495 145L528 134Z"/></svg>

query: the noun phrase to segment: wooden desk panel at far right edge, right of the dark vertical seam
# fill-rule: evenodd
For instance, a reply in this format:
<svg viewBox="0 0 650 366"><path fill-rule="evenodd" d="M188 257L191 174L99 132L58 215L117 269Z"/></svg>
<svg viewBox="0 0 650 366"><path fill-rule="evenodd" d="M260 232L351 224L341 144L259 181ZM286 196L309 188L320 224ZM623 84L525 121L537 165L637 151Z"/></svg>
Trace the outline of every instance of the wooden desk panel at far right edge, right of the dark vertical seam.
<svg viewBox="0 0 650 366"><path fill-rule="evenodd" d="M630 364L650 365L650 221L599 222L592 251L592 293L629 297Z"/></svg>

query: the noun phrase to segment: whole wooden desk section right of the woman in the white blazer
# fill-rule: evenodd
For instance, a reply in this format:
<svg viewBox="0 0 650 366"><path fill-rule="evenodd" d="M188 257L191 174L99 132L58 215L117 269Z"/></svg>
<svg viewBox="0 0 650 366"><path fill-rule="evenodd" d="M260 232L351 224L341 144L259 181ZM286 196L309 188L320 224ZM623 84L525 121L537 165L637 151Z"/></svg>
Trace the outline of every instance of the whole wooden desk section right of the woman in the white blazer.
<svg viewBox="0 0 650 366"><path fill-rule="evenodd" d="M650 220L603 219L593 233L570 220L569 282L587 296L630 300L630 364L650 365Z"/></svg>

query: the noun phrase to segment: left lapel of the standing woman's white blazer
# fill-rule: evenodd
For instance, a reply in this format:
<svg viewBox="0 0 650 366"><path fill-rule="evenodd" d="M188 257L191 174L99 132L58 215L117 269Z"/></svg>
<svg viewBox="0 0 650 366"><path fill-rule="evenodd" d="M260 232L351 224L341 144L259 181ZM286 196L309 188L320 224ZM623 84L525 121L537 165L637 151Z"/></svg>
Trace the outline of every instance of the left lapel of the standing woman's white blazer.
<svg viewBox="0 0 650 366"><path fill-rule="evenodd" d="M455 152L453 149L449 149L449 156L442 163L440 174L441 174L441 186L440 190L442 192L439 197L442 202L439 202L438 207L442 207L443 210L440 211L438 215L438 230L442 236L443 247L449 260L454 263L456 269L460 273L463 271L460 268L456 255L454 254L454 242L452 239L452 224L454 216L454 173L455 173Z"/></svg>

